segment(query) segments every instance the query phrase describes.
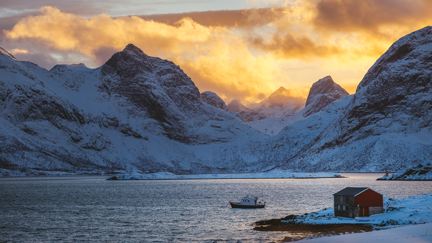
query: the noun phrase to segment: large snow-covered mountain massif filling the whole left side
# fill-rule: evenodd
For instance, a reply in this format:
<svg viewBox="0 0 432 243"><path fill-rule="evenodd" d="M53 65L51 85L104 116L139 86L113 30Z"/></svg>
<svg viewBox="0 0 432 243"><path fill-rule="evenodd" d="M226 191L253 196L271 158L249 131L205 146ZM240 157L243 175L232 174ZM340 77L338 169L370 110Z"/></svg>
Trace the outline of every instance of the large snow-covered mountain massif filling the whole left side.
<svg viewBox="0 0 432 243"><path fill-rule="evenodd" d="M238 170L236 151L210 165L208 158L226 150L224 143L265 136L199 95L178 66L133 45L97 69L80 63L50 71L2 50L1 167L34 168L33 174ZM197 148L203 151L199 156L193 154Z"/></svg>

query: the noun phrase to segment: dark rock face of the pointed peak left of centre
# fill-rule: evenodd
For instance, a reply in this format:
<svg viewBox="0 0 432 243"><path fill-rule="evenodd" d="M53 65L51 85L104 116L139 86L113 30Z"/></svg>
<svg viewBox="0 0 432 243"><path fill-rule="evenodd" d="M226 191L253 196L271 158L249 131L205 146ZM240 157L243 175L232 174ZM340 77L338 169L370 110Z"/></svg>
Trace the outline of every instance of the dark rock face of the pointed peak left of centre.
<svg viewBox="0 0 432 243"><path fill-rule="evenodd" d="M202 126L209 118L185 122L185 113L208 116L194 82L173 62L149 57L133 44L112 55L101 73L109 94L125 97L171 139L192 142L187 129Z"/></svg>

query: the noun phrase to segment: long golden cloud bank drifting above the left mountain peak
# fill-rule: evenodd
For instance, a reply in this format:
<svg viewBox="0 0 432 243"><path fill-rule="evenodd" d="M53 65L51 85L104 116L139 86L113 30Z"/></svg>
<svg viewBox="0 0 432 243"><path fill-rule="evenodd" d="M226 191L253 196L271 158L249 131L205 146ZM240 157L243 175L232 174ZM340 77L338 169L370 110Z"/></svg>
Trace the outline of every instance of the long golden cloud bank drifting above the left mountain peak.
<svg viewBox="0 0 432 243"><path fill-rule="evenodd" d="M228 100L254 102L280 85L275 84L279 73L273 59L252 55L241 35L226 27L203 26L190 18L168 25L137 16L86 19L49 6L40 11L5 31L6 37L37 42L55 56L81 54L96 65L133 43L150 56L180 65L201 92L211 90Z"/></svg>

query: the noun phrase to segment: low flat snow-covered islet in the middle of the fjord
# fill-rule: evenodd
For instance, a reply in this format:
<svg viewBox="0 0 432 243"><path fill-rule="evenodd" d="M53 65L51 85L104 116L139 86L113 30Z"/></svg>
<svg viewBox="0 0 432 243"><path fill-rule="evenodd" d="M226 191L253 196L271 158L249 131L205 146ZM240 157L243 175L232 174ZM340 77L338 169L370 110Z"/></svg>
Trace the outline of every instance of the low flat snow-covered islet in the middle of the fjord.
<svg viewBox="0 0 432 243"><path fill-rule="evenodd" d="M115 177L115 178L114 178ZM196 179L255 179L255 178L341 178L340 174L328 172L304 173L289 172L286 170L269 171L262 173L234 173L234 174L184 174L176 175L162 171L151 174L137 172L116 174L107 180L196 180Z"/></svg>

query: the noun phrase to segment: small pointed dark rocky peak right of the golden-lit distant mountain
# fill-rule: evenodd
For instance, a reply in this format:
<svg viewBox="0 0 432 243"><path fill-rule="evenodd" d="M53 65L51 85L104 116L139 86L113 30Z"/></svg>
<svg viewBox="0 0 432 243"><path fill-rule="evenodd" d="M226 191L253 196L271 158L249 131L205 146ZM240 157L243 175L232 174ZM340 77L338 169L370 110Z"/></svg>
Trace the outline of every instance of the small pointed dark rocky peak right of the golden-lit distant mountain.
<svg viewBox="0 0 432 243"><path fill-rule="evenodd" d="M306 100L306 107L303 109L303 117L323 110L331 102L346 95L349 95L348 92L335 83L330 76L314 82Z"/></svg>

